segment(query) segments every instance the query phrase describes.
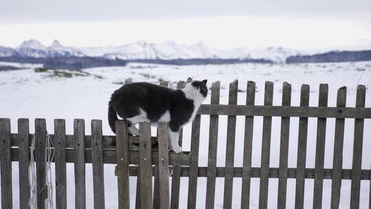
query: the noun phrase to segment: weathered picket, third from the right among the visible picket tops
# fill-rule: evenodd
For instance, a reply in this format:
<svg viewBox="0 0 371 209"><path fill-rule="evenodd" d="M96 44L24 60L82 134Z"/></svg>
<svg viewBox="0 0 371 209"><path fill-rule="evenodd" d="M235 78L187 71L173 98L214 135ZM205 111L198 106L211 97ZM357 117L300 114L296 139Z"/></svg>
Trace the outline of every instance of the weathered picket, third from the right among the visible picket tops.
<svg viewBox="0 0 371 209"><path fill-rule="evenodd" d="M328 103L328 85L319 85L319 107ZM324 187L324 151L326 144L326 118L317 119L317 141L315 144L315 179L313 190L313 208L322 208L322 190Z"/></svg>

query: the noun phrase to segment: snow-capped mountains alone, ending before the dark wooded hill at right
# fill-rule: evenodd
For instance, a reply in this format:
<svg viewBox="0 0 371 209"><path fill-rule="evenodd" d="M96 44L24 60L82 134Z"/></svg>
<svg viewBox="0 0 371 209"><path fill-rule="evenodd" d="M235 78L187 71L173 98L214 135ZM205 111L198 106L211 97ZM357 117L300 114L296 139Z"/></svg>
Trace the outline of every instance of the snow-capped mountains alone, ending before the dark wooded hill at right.
<svg viewBox="0 0 371 209"><path fill-rule="evenodd" d="M175 59L264 59L282 63L288 56L298 55L295 50L282 47L269 47L264 50L249 50L244 47L230 50L217 50L202 42L193 45L166 41L164 43L148 43L137 41L120 46L106 47L67 47L54 41L45 46L39 41L31 39L24 41L15 50L0 47L0 56L25 56L32 58L73 57L73 56L102 56L104 58L123 60L175 60Z"/></svg>

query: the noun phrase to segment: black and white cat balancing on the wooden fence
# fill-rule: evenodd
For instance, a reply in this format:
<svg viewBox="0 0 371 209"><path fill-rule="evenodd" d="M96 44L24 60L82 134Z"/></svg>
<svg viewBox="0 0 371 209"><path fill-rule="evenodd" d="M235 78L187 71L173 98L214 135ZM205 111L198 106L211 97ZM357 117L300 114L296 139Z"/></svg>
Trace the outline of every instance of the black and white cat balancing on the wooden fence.
<svg viewBox="0 0 371 209"><path fill-rule="evenodd" d="M151 83L130 83L113 92L109 101L109 126L115 133L119 115L128 121L129 131L139 135L139 122L168 122L169 146L175 153L182 152L178 144L179 130L192 122L207 96L207 80L188 78L183 89L170 89ZM131 123L131 124L130 124Z"/></svg>

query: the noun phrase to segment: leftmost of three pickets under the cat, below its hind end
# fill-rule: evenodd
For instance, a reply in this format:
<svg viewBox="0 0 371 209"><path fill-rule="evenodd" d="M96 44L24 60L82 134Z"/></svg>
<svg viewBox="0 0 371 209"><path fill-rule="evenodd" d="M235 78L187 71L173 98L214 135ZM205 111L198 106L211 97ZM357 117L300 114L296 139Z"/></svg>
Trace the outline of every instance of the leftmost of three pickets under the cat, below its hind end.
<svg viewBox="0 0 371 209"><path fill-rule="evenodd" d="M119 209L130 208L128 129L124 120L116 121L117 188Z"/></svg>

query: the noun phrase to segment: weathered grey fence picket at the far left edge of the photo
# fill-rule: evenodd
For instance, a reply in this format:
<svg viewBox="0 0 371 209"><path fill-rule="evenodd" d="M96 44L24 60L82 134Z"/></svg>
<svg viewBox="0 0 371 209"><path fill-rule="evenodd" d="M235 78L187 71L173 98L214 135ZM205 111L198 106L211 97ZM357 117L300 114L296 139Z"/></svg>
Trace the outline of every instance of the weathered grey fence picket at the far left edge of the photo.
<svg viewBox="0 0 371 209"><path fill-rule="evenodd" d="M13 208L10 119L0 118L1 208Z"/></svg>

